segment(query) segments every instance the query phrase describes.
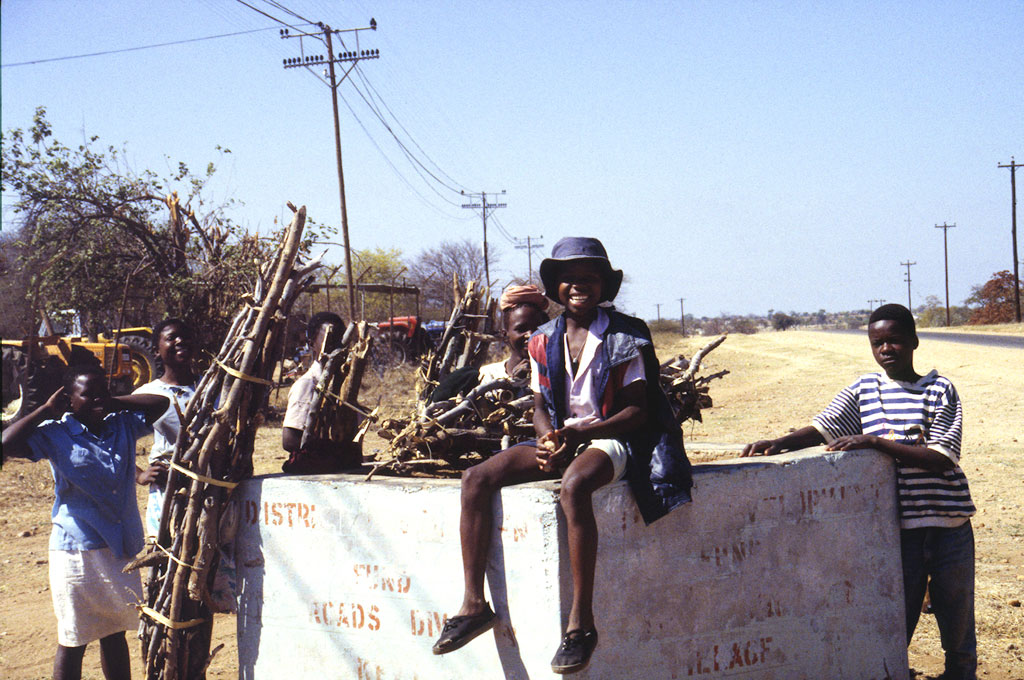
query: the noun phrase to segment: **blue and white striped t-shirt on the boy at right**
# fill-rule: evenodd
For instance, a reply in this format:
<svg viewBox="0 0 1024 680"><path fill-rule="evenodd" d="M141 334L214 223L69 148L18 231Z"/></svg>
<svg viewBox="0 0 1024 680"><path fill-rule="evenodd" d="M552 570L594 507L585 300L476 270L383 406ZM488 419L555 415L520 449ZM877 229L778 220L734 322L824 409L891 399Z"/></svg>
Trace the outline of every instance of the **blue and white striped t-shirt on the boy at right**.
<svg viewBox="0 0 1024 680"><path fill-rule="evenodd" d="M896 462L900 524L958 526L975 513L959 467L963 411L952 383L935 371L915 383L869 373L846 387L812 421L825 442L852 434L873 434L925 445L955 467L934 472Z"/></svg>

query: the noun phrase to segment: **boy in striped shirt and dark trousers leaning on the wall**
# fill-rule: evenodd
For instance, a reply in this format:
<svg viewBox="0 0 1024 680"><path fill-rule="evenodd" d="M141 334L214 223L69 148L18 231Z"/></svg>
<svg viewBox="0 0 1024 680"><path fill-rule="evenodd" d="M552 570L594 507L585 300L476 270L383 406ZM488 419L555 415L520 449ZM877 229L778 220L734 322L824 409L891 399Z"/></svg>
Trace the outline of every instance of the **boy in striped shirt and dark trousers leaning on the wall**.
<svg viewBox="0 0 1024 680"><path fill-rule="evenodd" d="M943 680L976 680L974 503L961 469L962 410L952 383L913 370L913 315L899 304L868 321L871 353L884 373L861 376L812 425L748 444L743 456L781 454L824 443L828 451L874 449L896 462L906 639L926 588L945 651ZM931 584L929 585L929 579Z"/></svg>

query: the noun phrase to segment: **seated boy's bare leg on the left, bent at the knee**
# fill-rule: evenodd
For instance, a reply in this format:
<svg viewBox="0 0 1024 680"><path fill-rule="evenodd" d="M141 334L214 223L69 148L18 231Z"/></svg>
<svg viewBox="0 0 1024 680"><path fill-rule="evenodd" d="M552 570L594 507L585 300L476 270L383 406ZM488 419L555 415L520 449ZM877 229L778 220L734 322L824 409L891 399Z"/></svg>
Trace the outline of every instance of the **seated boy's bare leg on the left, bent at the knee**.
<svg viewBox="0 0 1024 680"><path fill-rule="evenodd" d="M465 592L457 615L473 615L484 610L483 572L490 547L494 524L490 508L495 494L502 486L554 476L541 471L537 465L537 449L528 445L507 449L463 472L459 534Z"/></svg>

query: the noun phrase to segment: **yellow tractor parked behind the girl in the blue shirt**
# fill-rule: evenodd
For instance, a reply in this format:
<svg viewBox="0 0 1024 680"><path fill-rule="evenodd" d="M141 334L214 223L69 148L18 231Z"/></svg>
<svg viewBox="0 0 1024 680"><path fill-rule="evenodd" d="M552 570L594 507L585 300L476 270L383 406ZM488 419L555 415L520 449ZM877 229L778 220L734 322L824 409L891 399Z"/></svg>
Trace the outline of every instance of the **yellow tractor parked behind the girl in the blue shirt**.
<svg viewBox="0 0 1024 680"><path fill-rule="evenodd" d="M116 394L154 380L159 369L153 329L126 328L114 335L117 342L104 334L94 341L56 334L2 340L3 422L28 414L45 401L60 386L65 370L72 365L102 367Z"/></svg>

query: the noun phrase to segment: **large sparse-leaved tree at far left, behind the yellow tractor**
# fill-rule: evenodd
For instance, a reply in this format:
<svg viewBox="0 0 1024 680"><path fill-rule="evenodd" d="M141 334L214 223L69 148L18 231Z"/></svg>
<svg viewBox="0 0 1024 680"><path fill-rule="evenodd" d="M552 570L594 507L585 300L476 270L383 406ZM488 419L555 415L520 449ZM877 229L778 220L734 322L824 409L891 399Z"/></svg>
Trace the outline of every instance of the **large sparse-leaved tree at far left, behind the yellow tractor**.
<svg viewBox="0 0 1024 680"><path fill-rule="evenodd" d="M174 314L191 320L205 345L219 341L270 244L226 216L231 202L205 205L212 163L202 175L184 164L167 178L135 172L123 151L97 150L97 137L77 147L54 139L43 108L29 130L0 141L0 185L16 197L7 274L27 279L31 309L72 307L90 330L112 328L127 292L126 324Z"/></svg>

